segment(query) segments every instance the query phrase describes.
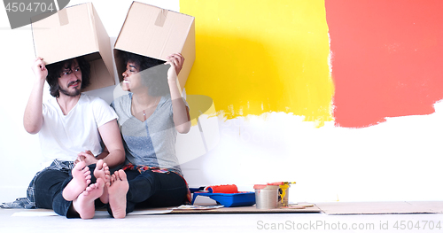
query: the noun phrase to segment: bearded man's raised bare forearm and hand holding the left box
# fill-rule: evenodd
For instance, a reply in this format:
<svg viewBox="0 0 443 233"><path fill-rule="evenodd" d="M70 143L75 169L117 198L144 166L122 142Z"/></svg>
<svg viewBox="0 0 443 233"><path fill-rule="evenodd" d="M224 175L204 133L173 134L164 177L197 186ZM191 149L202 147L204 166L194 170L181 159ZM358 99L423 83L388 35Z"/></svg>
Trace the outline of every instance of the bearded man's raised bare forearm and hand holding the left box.
<svg viewBox="0 0 443 233"><path fill-rule="evenodd" d="M31 68L35 74L35 82L31 95L27 100L23 126L29 134L36 134L43 125L43 87L48 70L44 66L43 58L35 58Z"/></svg>

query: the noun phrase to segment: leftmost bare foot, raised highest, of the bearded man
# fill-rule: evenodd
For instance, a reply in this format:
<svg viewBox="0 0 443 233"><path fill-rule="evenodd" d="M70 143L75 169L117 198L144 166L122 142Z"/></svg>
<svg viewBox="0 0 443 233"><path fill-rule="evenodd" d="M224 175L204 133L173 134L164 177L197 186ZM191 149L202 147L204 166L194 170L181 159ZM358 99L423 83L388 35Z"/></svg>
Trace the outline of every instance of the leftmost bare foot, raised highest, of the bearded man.
<svg viewBox="0 0 443 233"><path fill-rule="evenodd" d="M73 179L66 185L62 192L67 201L74 200L88 187L90 183L90 171L85 162L78 162L72 170Z"/></svg>

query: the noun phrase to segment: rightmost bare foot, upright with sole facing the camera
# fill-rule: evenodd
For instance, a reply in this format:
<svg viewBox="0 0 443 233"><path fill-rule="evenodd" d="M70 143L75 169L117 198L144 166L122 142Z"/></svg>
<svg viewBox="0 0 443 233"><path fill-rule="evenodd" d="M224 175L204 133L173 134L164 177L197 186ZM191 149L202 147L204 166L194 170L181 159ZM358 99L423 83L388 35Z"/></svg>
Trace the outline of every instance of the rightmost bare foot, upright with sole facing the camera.
<svg viewBox="0 0 443 233"><path fill-rule="evenodd" d="M129 190L128 179L123 170L116 171L111 176L111 183L108 184L109 206L113 211L113 217L122 219L126 216L126 194Z"/></svg>

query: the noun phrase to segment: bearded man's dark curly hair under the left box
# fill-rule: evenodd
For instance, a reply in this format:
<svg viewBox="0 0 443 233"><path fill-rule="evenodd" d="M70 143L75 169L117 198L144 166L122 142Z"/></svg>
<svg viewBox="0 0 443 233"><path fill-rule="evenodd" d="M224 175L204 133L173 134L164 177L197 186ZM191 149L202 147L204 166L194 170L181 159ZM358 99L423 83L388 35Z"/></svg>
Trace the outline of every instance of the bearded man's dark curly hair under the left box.
<svg viewBox="0 0 443 233"><path fill-rule="evenodd" d="M48 76L46 77L46 81L50 84L50 91L52 97L59 97L60 91L58 87L58 78L60 77L61 72L66 68L71 66L74 63L74 59L77 60L77 63L80 66L80 70L82 71L82 87L81 89L85 89L89 86L90 82L90 65L89 62L86 61L83 57L71 58L68 60L59 61L57 63L50 64L46 66L48 69Z"/></svg>

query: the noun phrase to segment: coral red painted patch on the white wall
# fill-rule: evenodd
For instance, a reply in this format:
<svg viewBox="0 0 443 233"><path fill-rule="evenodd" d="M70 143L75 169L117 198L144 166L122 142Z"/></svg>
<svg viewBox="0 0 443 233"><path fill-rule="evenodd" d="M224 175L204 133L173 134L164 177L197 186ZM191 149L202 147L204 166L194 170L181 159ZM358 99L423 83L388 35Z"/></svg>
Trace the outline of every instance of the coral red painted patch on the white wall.
<svg viewBox="0 0 443 233"><path fill-rule="evenodd" d="M326 0L336 126L434 113L443 98L443 1Z"/></svg>

